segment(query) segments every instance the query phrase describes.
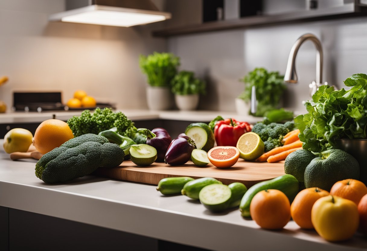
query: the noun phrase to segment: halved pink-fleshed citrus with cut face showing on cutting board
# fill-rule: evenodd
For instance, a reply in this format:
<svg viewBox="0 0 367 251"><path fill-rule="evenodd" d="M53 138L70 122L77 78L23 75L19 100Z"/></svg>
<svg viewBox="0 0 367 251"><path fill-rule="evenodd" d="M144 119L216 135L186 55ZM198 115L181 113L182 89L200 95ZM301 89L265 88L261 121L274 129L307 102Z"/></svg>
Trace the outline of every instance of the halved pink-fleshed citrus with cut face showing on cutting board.
<svg viewBox="0 0 367 251"><path fill-rule="evenodd" d="M216 146L209 150L210 163L219 168L232 167L240 157L240 151L235 146Z"/></svg>

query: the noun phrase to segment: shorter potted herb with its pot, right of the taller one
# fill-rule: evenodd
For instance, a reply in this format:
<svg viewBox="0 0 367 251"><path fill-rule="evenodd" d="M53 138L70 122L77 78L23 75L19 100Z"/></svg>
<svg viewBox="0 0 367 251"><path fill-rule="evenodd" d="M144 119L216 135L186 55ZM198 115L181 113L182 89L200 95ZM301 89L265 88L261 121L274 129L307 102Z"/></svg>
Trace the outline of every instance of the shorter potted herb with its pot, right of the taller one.
<svg viewBox="0 0 367 251"><path fill-rule="evenodd" d="M199 94L205 94L206 84L197 79L193 72L181 71L171 81L175 102L180 110L195 110L199 103Z"/></svg>

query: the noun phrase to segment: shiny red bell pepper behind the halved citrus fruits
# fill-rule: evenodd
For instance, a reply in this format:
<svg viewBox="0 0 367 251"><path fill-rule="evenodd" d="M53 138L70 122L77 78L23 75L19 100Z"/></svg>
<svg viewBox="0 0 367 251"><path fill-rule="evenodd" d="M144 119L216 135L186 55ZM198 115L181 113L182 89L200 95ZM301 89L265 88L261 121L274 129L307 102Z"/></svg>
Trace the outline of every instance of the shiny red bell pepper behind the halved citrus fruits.
<svg viewBox="0 0 367 251"><path fill-rule="evenodd" d="M218 146L236 146L242 134L251 131L247 122L235 119L219 120L214 127L214 138Z"/></svg>

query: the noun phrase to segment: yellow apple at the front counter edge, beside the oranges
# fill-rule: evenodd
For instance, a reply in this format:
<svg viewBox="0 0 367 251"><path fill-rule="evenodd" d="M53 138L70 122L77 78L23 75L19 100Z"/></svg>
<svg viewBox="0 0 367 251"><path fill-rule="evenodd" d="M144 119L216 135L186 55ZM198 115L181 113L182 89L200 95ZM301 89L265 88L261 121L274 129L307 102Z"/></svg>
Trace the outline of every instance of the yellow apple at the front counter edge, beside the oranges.
<svg viewBox="0 0 367 251"><path fill-rule="evenodd" d="M358 228L358 208L353 201L338 196L321 197L312 206L311 221L316 232L324 239L347 240Z"/></svg>

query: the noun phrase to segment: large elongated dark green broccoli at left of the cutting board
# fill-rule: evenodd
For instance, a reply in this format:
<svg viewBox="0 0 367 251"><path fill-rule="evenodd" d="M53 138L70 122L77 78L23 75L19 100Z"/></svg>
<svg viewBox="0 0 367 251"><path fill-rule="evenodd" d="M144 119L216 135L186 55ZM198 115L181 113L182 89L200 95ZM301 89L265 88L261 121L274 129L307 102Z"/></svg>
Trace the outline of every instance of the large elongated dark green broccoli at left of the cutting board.
<svg viewBox="0 0 367 251"><path fill-rule="evenodd" d="M36 163L36 176L46 183L66 182L91 174L98 167L116 167L123 160L119 145L103 136L84 134L44 154Z"/></svg>

